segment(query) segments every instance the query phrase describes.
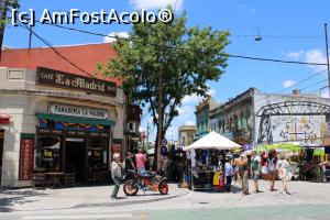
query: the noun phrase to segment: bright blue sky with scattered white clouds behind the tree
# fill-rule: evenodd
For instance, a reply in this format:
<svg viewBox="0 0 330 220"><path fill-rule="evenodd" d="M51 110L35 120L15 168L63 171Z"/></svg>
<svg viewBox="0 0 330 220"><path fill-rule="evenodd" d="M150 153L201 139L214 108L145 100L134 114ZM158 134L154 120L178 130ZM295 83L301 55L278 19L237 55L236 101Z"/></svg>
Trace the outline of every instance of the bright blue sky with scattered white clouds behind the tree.
<svg viewBox="0 0 330 220"><path fill-rule="evenodd" d="M227 47L229 54L257 56L287 61L326 63L324 28L330 25L330 2L287 1L287 0L128 0L128 1L21 1L21 11L29 8L40 13L43 9L51 11L68 11L76 8L81 11L100 11L101 9L132 11L136 8L156 10L167 3L176 4L177 13L187 12L188 25L212 26L215 30L228 30L231 33L231 44ZM129 25L86 25L77 23L77 29L109 34L112 32L128 32ZM70 45L99 43L105 38L88 34L75 33L48 25L36 24L35 31L53 45ZM255 41L257 34L262 41ZM330 29L329 29L330 32ZM29 33L22 28L8 26L4 44L11 47L26 47ZM32 46L45 46L33 38ZM277 94L285 87L293 85L324 67L306 65L288 65L268 62L255 62L230 58L226 73L220 80L210 81L210 94L219 102L243 92L250 87L261 91ZM315 91L324 87L327 82L314 84L327 79L326 73L320 74L294 88L306 88L302 92ZM310 86L310 87L309 87ZM327 95L327 89L320 91ZM184 123L195 122L195 106L200 98L186 97L179 108L180 116L174 121L167 132L168 140L177 139L177 128ZM143 114L142 130L146 129L150 116ZM152 131L151 140L155 136Z"/></svg>

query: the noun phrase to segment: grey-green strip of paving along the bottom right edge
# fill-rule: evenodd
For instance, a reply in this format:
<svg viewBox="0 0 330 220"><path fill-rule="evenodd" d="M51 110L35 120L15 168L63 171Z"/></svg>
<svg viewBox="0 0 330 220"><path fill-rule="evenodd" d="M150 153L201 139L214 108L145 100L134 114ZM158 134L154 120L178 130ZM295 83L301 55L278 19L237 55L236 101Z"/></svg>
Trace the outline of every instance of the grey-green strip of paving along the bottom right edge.
<svg viewBox="0 0 330 220"><path fill-rule="evenodd" d="M276 205L268 207L240 208L195 208L183 210L150 210L145 211L148 220L284 220L284 219L329 219L330 205Z"/></svg>

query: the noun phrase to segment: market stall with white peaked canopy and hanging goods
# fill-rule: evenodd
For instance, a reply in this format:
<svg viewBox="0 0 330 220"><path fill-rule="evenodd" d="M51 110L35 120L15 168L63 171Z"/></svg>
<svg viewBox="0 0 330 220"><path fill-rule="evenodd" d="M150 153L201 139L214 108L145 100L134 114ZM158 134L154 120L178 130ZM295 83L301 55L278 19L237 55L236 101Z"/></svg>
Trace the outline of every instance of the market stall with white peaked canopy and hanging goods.
<svg viewBox="0 0 330 220"><path fill-rule="evenodd" d="M219 175L221 172L226 156L230 151L241 147L216 132L210 132L185 147L191 163L189 168L193 190L211 189L213 175Z"/></svg>

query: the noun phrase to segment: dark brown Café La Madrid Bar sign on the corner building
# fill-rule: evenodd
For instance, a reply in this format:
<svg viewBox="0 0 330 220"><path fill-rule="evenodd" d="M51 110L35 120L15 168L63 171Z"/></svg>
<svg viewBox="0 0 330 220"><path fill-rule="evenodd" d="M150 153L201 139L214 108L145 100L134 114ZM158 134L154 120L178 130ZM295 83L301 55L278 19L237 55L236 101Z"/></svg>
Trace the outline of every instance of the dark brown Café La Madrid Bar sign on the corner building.
<svg viewBox="0 0 330 220"><path fill-rule="evenodd" d="M117 86L112 81L84 77L55 69L36 67L36 82L52 87L75 89L116 97Z"/></svg>

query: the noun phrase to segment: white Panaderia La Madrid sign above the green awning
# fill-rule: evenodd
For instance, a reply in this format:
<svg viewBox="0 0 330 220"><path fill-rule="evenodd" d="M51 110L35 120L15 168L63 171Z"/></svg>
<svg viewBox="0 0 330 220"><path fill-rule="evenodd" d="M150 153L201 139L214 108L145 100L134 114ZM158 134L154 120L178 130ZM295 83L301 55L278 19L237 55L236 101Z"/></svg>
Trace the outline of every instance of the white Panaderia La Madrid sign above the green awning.
<svg viewBox="0 0 330 220"><path fill-rule="evenodd" d="M50 113L69 116L69 117L80 117L80 118L91 118L91 119L108 119L109 113L103 109L95 109L87 107L78 107L63 103L51 103Z"/></svg>

